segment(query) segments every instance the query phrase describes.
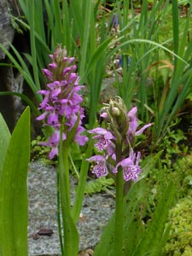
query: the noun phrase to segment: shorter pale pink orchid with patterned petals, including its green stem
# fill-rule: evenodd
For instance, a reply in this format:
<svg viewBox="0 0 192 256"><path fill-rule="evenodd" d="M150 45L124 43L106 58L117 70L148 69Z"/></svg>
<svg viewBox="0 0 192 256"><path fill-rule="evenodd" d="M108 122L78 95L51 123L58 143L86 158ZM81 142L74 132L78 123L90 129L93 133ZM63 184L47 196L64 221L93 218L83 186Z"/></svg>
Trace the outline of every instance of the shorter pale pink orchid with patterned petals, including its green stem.
<svg viewBox="0 0 192 256"><path fill-rule="evenodd" d="M105 127L97 127L88 132L96 134L95 147L101 154L91 156L88 161L95 161L93 172L96 177L113 175L116 180L115 202L115 242L114 255L123 255L123 199L125 183L137 181L142 172L139 166L141 153L135 153L133 148L135 138L151 126L144 125L137 130L137 107L127 112L125 103L115 96L106 107L102 108L101 118Z"/></svg>

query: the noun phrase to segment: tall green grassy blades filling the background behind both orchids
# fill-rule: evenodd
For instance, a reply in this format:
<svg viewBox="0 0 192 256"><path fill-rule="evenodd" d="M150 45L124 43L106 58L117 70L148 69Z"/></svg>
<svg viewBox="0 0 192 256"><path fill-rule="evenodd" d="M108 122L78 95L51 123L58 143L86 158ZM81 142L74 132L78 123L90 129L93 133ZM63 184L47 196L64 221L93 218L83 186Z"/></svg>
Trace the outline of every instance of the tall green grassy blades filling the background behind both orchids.
<svg viewBox="0 0 192 256"><path fill-rule="evenodd" d="M137 1L129 0L113 3L108 12L104 8L106 1L102 0L19 3L25 19L13 19L30 32L31 54L25 56L32 65L32 73L13 45L15 56L1 47L26 79L37 104L42 98L36 92L44 84L40 70L48 64L48 55L56 44L66 45L67 52L76 55L81 82L87 86L89 124L93 127L107 64L121 55L123 81L116 74L118 95L128 108L131 102L137 103L143 121L154 120L155 149L191 93L191 6L184 14L186 17L181 18L183 13L179 13L178 6L186 4L182 1L144 1L137 6L138 13ZM115 33L111 31L114 17L119 24ZM129 67L127 57L131 60ZM34 103L29 103L35 110Z"/></svg>

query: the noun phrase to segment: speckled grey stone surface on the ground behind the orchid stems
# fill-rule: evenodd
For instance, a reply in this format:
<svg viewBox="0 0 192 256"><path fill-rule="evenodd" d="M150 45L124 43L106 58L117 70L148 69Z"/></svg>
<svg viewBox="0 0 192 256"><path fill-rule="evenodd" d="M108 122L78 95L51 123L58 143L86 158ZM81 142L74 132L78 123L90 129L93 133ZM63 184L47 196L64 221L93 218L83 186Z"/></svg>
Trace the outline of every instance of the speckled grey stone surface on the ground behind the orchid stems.
<svg viewBox="0 0 192 256"><path fill-rule="evenodd" d="M71 177L71 197L74 200L75 177ZM41 160L32 162L28 172L28 253L61 255L56 218L56 169ZM92 248L99 241L103 227L114 209L111 195L106 193L84 196L79 218L79 250ZM36 236L39 230L53 230L52 236Z"/></svg>

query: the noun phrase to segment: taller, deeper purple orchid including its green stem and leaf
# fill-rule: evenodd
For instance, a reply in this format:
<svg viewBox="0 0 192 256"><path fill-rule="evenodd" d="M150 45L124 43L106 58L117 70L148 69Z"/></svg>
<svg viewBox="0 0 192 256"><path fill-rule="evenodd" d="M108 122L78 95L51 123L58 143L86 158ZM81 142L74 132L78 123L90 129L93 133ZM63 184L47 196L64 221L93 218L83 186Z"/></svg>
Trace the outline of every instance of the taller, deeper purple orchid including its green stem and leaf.
<svg viewBox="0 0 192 256"><path fill-rule="evenodd" d="M66 49L62 49L59 45L55 54L49 55L49 57L52 62L48 69L43 70L48 84L46 90L38 91L44 96L44 100L39 106L39 109L44 112L38 117L38 120L44 120L44 126L52 127L52 134L48 137L48 142L41 144L51 148L50 159L58 155L59 160L57 212L61 253L66 256L77 256L79 234L71 212L68 157L71 143L84 145L88 141L88 137L82 135L84 132L82 126L84 108L80 105L83 98L79 91L83 86L79 85L79 76L75 73L77 67L73 64L74 58L67 57Z"/></svg>

